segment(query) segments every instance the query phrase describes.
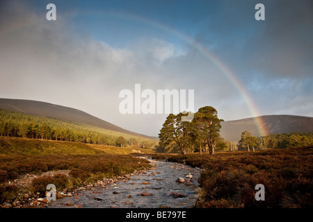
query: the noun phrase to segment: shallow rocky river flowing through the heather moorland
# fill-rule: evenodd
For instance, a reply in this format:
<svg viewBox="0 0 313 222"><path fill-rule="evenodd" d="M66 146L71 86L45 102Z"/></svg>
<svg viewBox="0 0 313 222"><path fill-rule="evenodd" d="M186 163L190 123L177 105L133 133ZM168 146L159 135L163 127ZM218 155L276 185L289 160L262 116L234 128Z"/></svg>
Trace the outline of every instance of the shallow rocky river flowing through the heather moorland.
<svg viewBox="0 0 313 222"><path fill-rule="evenodd" d="M197 199L194 190L198 187L197 179L200 176L198 169L188 167L185 164L150 160L154 166L139 175L130 176L124 182L115 182L115 187L105 189L103 187L90 187L77 192L77 196L65 197L51 202L47 207L118 207L118 208L158 208L193 207ZM186 175L193 173L191 182L187 186L176 182L177 178L186 179ZM143 182L150 184L144 185ZM115 191L118 194L113 194ZM138 196L147 192L151 196ZM176 197L175 194L184 194L185 197ZM129 195L131 197L129 197ZM65 205L66 204L66 205Z"/></svg>

